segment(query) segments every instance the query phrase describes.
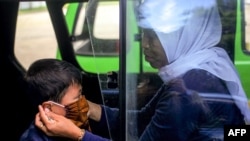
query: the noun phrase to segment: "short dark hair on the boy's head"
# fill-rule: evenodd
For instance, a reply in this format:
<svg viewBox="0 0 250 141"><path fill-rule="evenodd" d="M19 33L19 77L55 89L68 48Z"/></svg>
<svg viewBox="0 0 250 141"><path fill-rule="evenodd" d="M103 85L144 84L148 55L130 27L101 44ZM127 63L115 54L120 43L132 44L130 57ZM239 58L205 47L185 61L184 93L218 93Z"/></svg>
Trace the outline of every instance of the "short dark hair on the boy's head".
<svg viewBox="0 0 250 141"><path fill-rule="evenodd" d="M81 85L81 71L57 59L40 59L31 64L25 75L27 94L34 106L47 100L60 102L72 84Z"/></svg>

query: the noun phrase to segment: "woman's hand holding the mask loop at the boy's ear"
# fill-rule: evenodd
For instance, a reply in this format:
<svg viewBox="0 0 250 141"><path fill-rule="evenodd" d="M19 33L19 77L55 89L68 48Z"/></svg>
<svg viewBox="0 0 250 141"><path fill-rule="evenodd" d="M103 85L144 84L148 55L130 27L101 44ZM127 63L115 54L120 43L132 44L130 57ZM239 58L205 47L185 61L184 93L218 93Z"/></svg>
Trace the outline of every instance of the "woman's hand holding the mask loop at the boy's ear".
<svg viewBox="0 0 250 141"><path fill-rule="evenodd" d="M39 113L36 114L35 125L48 136L66 137L77 140L84 132L71 120L64 116L50 112L49 109L39 105Z"/></svg>

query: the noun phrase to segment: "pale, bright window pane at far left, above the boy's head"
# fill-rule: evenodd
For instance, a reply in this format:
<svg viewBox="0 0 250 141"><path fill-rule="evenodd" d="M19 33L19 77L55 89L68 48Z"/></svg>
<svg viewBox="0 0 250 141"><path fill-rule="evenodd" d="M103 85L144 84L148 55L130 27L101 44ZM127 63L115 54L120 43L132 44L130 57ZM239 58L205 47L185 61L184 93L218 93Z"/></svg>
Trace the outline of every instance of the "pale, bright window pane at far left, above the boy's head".
<svg viewBox="0 0 250 141"><path fill-rule="evenodd" d="M27 69L40 58L56 57L56 37L45 2L20 2L15 56Z"/></svg>

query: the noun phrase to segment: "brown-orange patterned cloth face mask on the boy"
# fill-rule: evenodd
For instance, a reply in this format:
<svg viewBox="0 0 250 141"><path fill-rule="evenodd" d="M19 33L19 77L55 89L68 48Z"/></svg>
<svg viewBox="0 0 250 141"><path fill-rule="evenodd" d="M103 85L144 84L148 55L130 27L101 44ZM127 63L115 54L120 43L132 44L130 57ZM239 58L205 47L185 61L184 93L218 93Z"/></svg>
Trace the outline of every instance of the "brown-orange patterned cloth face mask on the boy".
<svg viewBox="0 0 250 141"><path fill-rule="evenodd" d="M65 106L66 117L71 119L75 125L91 131L87 112L89 110L88 102L85 96L81 96L79 100Z"/></svg>

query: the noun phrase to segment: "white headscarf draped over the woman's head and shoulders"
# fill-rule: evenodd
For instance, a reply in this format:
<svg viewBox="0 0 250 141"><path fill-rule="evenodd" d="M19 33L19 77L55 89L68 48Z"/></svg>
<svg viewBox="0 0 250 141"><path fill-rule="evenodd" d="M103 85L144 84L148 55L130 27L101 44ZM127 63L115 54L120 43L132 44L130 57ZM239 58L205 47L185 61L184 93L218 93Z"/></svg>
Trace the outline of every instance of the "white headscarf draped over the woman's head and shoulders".
<svg viewBox="0 0 250 141"><path fill-rule="evenodd" d="M234 64L221 39L221 20L215 0L144 0L138 24L152 28L166 52L169 64L159 69L164 82L191 69L203 69L219 77L250 123L248 100Z"/></svg>

